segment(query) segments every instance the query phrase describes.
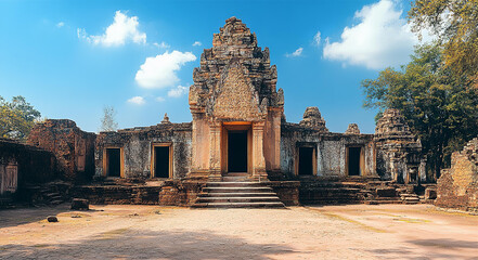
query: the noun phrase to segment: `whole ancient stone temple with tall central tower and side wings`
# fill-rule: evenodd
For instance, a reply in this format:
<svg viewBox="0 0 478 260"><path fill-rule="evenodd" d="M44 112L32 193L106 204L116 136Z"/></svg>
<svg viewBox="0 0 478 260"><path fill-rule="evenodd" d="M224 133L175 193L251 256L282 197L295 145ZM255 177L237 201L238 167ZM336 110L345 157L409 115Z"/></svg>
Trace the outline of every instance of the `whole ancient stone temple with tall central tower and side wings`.
<svg viewBox="0 0 478 260"><path fill-rule="evenodd" d="M204 50L193 80L192 122L171 122L165 115L151 127L95 138L78 133L70 138L74 150L56 154L76 158L77 162L65 164L72 169L90 169L75 156L86 153L90 158L81 151L93 140L94 179L162 180L163 186L155 190L159 203L172 205L175 199L190 204L202 188L231 180L263 183L289 204L298 203L298 186L306 181L425 180L421 143L398 110L384 113L375 134L360 133L356 123L345 133L330 132L318 107L307 107L300 122L287 122L284 91L276 88L269 49L258 47L256 35L238 18L227 20L214 35L212 48ZM47 141L38 138L41 131L61 132L38 126L31 144L54 143L50 140L54 134L44 134Z"/></svg>

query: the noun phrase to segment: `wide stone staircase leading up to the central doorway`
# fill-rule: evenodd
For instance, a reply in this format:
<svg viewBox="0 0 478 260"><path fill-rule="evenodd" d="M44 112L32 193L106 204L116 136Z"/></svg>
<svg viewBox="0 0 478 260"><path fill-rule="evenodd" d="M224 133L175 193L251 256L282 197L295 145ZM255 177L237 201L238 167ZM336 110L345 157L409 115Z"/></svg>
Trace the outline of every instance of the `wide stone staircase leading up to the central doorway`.
<svg viewBox="0 0 478 260"><path fill-rule="evenodd" d="M242 180L229 176L227 180ZM285 208L273 190L261 182L208 182L192 208Z"/></svg>

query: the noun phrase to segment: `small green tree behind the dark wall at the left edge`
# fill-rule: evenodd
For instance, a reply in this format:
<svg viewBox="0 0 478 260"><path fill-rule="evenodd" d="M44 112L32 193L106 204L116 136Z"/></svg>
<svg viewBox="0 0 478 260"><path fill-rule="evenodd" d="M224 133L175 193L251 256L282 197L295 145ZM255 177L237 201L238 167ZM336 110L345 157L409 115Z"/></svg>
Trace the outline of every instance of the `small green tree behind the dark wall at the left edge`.
<svg viewBox="0 0 478 260"><path fill-rule="evenodd" d="M23 140L39 118L40 113L25 98L13 96L8 102L0 96L0 136Z"/></svg>

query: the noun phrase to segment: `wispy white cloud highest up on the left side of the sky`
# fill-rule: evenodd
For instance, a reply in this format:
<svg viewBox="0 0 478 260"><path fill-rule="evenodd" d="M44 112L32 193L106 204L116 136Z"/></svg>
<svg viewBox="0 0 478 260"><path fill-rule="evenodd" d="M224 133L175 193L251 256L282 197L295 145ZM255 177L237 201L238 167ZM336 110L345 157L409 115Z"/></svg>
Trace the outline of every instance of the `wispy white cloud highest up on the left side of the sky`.
<svg viewBox="0 0 478 260"><path fill-rule="evenodd" d="M116 11L114 22L105 32L100 36L88 36L85 29L78 28L78 38L88 40L93 44L104 47L122 46L127 41L134 43L146 43L146 34L138 29L140 23L138 16L128 17L121 11Z"/></svg>

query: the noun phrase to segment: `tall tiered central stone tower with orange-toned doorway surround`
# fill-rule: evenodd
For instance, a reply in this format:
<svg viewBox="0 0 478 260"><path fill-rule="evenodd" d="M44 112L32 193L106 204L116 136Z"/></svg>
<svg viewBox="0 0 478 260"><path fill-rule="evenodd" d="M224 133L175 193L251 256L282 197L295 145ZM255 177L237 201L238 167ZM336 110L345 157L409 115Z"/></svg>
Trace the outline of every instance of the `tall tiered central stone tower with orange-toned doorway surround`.
<svg viewBox="0 0 478 260"><path fill-rule="evenodd" d="M193 73L191 178L220 181L231 172L266 181L280 172L284 94L275 89L269 49L236 17L214 35Z"/></svg>

